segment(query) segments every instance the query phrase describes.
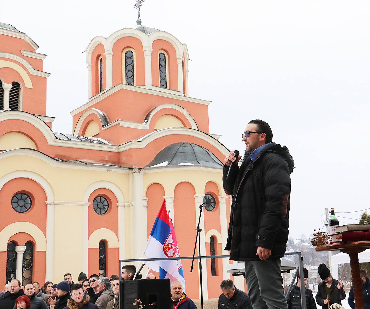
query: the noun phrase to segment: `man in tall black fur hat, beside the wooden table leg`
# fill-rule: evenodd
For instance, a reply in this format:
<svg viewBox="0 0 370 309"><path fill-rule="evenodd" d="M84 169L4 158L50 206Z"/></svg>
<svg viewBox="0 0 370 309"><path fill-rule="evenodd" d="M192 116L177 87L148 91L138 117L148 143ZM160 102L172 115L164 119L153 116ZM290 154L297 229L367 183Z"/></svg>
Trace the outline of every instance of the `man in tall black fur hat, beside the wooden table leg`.
<svg viewBox="0 0 370 309"><path fill-rule="evenodd" d="M320 264L317 268L317 272L323 280L319 283L316 294L317 304L320 305L322 309L329 308L333 303L342 305L340 301L346 298L342 281L333 279L332 274L330 274L325 264Z"/></svg>

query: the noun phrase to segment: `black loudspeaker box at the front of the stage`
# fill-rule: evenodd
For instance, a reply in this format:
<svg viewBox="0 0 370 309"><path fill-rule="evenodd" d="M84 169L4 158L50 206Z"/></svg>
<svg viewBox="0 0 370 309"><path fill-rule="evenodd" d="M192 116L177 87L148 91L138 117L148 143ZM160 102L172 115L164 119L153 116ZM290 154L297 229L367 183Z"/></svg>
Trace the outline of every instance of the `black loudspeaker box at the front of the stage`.
<svg viewBox="0 0 370 309"><path fill-rule="evenodd" d="M122 280L120 282L120 309L137 309L140 299L144 309L171 309L170 279Z"/></svg>

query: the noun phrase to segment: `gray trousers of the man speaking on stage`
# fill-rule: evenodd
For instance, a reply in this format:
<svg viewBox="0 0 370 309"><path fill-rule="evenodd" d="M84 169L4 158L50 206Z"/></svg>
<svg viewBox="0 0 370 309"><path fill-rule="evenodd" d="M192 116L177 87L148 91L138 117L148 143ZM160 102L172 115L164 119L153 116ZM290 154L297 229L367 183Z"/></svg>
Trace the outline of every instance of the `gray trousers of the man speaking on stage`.
<svg viewBox="0 0 370 309"><path fill-rule="evenodd" d="M253 309L287 309L280 259L245 262L245 280Z"/></svg>

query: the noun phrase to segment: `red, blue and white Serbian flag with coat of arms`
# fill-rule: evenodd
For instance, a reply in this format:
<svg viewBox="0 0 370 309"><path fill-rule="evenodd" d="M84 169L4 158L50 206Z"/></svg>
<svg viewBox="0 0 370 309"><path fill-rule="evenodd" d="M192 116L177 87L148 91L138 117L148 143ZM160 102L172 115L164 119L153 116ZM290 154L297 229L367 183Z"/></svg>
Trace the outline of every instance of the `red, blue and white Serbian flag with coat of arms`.
<svg viewBox="0 0 370 309"><path fill-rule="evenodd" d="M155 219L144 253L147 258L180 257L174 225L172 224L172 220L168 219L165 200L163 200L161 209ZM154 271L158 271L159 279L169 278L171 282L180 281L185 291L185 279L181 259L146 261L144 264Z"/></svg>

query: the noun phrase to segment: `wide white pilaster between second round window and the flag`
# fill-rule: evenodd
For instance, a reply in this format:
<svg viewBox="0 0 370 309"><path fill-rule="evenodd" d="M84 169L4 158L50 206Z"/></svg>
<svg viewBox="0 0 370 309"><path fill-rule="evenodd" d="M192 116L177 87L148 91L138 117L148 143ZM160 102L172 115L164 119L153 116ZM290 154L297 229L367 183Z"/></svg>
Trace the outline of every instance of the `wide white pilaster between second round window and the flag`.
<svg viewBox="0 0 370 309"><path fill-rule="evenodd" d="M143 205L143 191L143 172L141 169L134 168L130 174L130 199L133 204L133 208L131 208L133 210L133 225L131 226L132 258L141 258L148 240L147 207Z"/></svg>

